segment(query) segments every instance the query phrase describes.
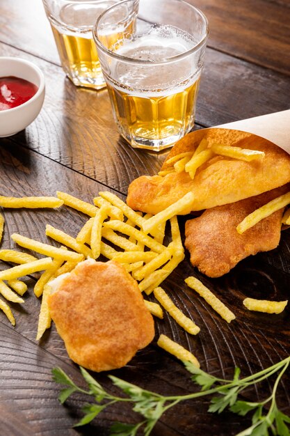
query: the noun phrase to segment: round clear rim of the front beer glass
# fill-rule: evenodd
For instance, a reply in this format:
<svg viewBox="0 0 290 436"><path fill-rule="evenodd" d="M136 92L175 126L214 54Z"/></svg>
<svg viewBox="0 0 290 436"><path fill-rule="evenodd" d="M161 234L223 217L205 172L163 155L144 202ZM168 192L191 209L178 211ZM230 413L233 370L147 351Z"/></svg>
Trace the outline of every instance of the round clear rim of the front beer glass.
<svg viewBox="0 0 290 436"><path fill-rule="evenodd" d="M186 52L183 52L180 54L175 54L175 56L170 56L169 58L165 58L162 61L146 61L144 59L134 59L134 58L129 58L128 56L122 56L122 54L112 52L111 50L107 49L102 44L102 42L99 40L99 36L97 33L97 26L98 26L100 20L102 20L102 17L104 17L104 15L106 13L108 13L109 10L116 8L117 6L120 6L122 3L128 3L129 1L134 1L134 0L122 0L118 3L115 3L115 5L110 6L108 9L104 10L104 12L101 15L99 15L99 17L97 18L97 21L95 22L95 24L92 28L92 37L95 41L95 44L97 45L97 48L101 49L103 52L108 54L108 56L111 56L115 59L118 59L119 61L125 61L127 63L138 63L141 65L165 65L168 63L178 61L179 59L183 59L184 57L197 52L198 49L200 49L200 47L202 47L204 45L204 43L206 42L206 40L209 36L209 22L207 20L207 17L204 15L204 13L199 8L196 8L195 6L191 5L187 1L174 0L174 1L179 1L179 3L184 3L187 6L189 6L191 9L195 10L195 12L197 12L198 15L200 15L200 17L202 17L202 20L204 21L204 24L205 24L204 35L202 36L200 41L196 45L194 45L194 47L191 47L191 49L186 50Z"/></svg>

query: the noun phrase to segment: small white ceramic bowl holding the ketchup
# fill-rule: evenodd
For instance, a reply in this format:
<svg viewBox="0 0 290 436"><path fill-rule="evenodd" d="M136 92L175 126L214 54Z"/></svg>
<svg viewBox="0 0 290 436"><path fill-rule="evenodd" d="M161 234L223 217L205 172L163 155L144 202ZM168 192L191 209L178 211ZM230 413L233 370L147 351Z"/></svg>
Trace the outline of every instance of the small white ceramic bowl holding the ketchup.
<svg viewBox="0 0 290 436"><path fill-rule="evenodd" d="M25 129L35 120L45 99L45 76L32 62L12 57L0 57L0 77L15 76L31 81L38 91L27 102L12 109L0 111L0 137Z"/></svg>

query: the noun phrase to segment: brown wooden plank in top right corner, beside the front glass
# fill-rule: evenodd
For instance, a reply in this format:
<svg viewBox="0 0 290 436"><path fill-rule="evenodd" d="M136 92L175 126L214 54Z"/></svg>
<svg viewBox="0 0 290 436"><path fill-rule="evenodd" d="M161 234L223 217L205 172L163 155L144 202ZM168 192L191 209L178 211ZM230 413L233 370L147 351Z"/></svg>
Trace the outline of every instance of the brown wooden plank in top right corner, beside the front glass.
<svg viewBox="0 0 290 436"><path fill-rule="evenodd" d="M190 0L209 20L209 47L290 75L289 1Z"/></svg>

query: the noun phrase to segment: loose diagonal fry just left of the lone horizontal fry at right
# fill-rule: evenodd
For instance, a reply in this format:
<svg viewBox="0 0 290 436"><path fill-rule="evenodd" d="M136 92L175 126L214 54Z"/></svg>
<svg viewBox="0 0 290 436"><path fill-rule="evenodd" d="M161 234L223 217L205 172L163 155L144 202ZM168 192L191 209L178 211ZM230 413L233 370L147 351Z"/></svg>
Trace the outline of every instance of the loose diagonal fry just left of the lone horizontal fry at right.
<svg viewBox="0 0 290 436"><path fill-rule="evenodd" d="M223 302L214 295L209 288L204 286L204 284L196 279L195 277L187 277L187 279L184 280L185 283L195 290L202 298L205 299L205 301L216 311L224 320L227 322L231 322L236 318L234 316L234 313L230 311Z"/></svg>

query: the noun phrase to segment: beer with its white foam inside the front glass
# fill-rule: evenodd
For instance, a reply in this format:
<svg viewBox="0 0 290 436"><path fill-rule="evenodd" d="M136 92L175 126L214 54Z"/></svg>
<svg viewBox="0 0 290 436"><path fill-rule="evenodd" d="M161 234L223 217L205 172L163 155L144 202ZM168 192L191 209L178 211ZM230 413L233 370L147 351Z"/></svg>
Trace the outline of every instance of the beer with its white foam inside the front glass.
<svg viewBox="0 0 290 436"><path fill-rule="evenodd" d="M149 67L140 63L140 59L172 59L191 44L180 29L161 26L116 46L114 53L125 60L112 61L111 74L105 73L105 78L118 128L132 146L161 150L192 129L200 72L192 68L191 60Z"/></svg>

